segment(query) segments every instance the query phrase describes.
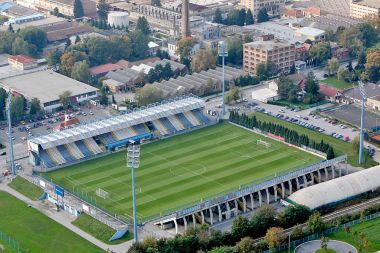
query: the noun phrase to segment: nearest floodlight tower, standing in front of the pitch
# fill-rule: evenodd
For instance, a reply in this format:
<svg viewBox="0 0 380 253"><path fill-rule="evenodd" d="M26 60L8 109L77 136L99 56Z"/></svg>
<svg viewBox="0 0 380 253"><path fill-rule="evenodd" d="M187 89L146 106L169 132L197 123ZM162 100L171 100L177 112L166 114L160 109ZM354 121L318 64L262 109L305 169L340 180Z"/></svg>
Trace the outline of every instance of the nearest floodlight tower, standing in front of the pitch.
<svg viewBox="0 0 380 253"><path fill-rule="evenodd" d="M136 185L135 168L140 167L140 145L138 142L130 141L127 149L127 167L132 170L132 196L133 196L133 233L135 242L139 241L137 229L137 207L136 207Z"/></svg>

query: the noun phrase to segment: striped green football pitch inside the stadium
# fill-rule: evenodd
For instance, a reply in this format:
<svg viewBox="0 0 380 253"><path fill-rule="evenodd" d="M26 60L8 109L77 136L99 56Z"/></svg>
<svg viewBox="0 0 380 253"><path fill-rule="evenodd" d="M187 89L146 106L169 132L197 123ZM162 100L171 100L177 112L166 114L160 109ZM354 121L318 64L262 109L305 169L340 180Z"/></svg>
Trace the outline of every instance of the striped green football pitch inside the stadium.
<svg viewBox="0 0 380 253"><path fill-rule="evenodd" d="M131 173L125 155L114 153L45 176L96 198L112 213L131 217ZM136 170L139 219L167 214L318 160L230 123L143 145L141 167ZM99 188L108 192L105 199L96 195Z"/></svg>

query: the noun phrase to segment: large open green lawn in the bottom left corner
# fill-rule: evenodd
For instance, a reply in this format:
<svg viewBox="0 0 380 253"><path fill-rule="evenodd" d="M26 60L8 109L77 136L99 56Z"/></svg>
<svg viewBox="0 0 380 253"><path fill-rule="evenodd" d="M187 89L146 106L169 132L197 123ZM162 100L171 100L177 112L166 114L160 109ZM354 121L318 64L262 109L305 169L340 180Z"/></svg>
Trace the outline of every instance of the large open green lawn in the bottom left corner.
<svg viewBox="0 0 380 253"><path fill-rule="evenodd" d="M0 217L0 231L11 235L27 252L103 252L36 209L2 191Z"/></svg>

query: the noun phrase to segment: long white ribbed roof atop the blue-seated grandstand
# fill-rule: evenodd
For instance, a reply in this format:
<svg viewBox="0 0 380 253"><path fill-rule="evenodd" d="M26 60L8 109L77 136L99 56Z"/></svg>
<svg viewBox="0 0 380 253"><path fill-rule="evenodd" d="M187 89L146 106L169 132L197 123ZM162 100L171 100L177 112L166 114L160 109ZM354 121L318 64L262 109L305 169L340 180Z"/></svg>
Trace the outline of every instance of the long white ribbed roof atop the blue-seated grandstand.
<svg viewBox="0 0 380 253"><path fill-rule="evenodd" d="M28 142L48 149L202 107L204 107L204 101L200 98L194 96L180 97L150 105L131 113L36 137Z"/></svg>

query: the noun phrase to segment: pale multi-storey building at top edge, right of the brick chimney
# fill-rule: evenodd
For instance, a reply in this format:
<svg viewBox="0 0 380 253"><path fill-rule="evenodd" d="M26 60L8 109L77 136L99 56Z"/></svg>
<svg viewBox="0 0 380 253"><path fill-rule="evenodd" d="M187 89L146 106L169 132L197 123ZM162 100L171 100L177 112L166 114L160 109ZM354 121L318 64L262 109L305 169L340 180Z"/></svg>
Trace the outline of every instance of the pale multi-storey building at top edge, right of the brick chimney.
<svg viewBox="0 0 380 253"><path fill-rule="evenodd" d="M257 18L260 9L265 8L269 15L280 15L285 7L285 0L240 0L240 5L252 11Z"/></svg>

